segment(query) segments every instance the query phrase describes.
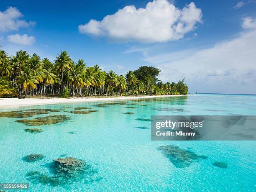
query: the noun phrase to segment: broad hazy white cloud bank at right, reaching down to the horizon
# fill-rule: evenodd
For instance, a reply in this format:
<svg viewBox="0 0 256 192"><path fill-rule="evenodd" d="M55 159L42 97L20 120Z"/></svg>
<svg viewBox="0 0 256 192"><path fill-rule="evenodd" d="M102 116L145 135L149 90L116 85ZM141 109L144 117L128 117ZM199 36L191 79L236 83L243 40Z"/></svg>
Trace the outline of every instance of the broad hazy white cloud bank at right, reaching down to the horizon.
<svg viewBox="0 0 256 192"><path fill-rule="evenodd" d="M252 19L253 20L253 19ZM145 57L161 69L159 79L186 77L192 92L256 94L256 28L207 49L189 49Z"/></svg>

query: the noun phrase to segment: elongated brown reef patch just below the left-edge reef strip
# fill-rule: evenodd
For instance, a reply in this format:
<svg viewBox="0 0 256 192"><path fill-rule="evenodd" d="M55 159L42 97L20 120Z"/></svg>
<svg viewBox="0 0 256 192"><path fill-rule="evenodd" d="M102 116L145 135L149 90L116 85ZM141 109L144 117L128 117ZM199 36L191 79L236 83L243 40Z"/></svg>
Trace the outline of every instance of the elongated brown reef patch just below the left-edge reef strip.
<svg viewBox="0 0 256 192"><path fill-rule="evenodd" d="M67 115L49 115L46 117L37 117L34 119L15 120L15 122L23 123L24 125L28 126L40 126L61 123L67 120L70 120L70 117Z"/></svg>

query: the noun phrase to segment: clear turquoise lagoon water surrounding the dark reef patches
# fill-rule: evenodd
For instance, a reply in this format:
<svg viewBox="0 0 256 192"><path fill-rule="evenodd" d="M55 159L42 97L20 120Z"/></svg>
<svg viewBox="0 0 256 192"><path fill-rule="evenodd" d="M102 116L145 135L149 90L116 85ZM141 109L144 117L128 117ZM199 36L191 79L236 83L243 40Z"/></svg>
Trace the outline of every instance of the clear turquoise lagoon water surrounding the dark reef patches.
<svg viewBox="0 0 256 192"><path fill-rule="evenodd" d="M150 119L151 115L256 115L255 95L199 94L112 102L123 105L102 108L97 104L103 102L81 102L0 110L61 109L24 119L48 115L71 118L43 126L15 122L22 118L0 118L0 183L29 183L29 191L56 192L256 191L256 141L151 141L150 121L136 120ZM70 113L76 107L99 111ZM134 114L124 114L127 112ZM25 128L44 132L32 134L23 131ZM179 168L158 150L163 145L189 149L208 158ZM46 157L36 162L23 161L28 154ZM61 154L86 161L95 172L64 186L27 180L29 171L53 175L49 164ZM228 168L213 166L215 161L227 163Z"/></svg>

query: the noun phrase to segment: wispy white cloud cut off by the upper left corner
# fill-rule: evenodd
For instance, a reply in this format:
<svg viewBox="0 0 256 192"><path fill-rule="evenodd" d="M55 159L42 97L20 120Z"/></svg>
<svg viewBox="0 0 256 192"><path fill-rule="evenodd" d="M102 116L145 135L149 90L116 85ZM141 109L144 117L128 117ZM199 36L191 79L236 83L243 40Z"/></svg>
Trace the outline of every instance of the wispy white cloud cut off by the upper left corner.
<svg viewBox="0 0 256 192"><path fill-rule="evenodd" d="M18 31L19 28L26 28L35 25L33 21L22 20L22 13L15 7L9 7L0 11L0 32Z"/></svg>

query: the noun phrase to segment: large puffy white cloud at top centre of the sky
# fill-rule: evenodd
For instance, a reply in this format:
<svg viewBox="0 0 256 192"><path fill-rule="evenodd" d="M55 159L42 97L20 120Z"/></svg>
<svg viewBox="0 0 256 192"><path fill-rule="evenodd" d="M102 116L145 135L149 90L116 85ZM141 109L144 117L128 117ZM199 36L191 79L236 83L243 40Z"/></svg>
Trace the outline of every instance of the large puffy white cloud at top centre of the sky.
<svg viewBox="0 0 256 192"><path fill-rule="evenodd" d="M78 28L80 33L117 41L166 42L183 38L202 22L201 18L202 11L193 2L179 9L168 0L154 0L145 8L125 6L101 21L92 19Z"/></svg>

